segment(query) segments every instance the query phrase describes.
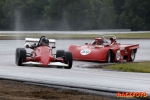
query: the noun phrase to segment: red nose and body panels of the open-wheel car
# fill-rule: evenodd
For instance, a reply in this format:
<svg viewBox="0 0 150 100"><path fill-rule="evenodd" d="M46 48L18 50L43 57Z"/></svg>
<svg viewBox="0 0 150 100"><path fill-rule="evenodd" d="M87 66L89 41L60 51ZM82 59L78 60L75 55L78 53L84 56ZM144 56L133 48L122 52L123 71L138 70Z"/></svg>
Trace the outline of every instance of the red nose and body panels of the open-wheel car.
<svg viewBox="0 0 150 100"><path fill-rule="evenodd" d="M50 62L63 62L63 59L55 58L51 47L43 45L33 50L31 57L26 58L26 62L28 61L40 62L43 66L48 66Z"/></svg>

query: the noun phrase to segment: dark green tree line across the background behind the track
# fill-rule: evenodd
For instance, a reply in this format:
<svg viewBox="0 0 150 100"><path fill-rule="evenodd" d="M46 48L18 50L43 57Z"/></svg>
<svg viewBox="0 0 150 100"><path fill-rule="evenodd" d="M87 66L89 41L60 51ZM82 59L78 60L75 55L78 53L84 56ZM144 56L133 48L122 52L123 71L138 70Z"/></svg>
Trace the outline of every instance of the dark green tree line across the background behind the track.
<svg viewBox="0 0 150 100"><path fill-rule="evenodd" d="M0 0L0 30L150 30L150 0Z"/></svg>

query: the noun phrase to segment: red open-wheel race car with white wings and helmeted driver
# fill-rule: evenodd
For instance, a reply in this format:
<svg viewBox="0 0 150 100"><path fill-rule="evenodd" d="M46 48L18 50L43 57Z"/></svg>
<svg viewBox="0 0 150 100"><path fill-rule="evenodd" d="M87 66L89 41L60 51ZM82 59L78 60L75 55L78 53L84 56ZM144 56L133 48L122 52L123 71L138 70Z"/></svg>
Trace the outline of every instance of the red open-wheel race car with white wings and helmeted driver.
<svg viewBox="0 0 150 100"><path fill-rule="evenodd" d="M47 39L45 36L38 38L26 38L25 48L30 48L31 53L27 53L25 48L16 49L16 64L37 65L37 66L56 66L71 69L72 53L64 50L57 50L53 54L52 49L55 48L55 39ZM30 45L32 43L32 45ZM50 46L52 44L53 46Z"/></svg>

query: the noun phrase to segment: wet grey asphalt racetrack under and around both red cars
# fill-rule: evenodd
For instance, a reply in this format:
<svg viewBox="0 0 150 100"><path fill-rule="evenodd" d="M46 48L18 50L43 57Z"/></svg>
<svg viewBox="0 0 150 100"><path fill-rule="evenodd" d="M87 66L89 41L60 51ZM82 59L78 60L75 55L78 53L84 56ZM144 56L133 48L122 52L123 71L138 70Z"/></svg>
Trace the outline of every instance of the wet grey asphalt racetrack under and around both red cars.
<svg viewBox="0 0 150 100"><path fill-rule="evenodd" d="M92 40L57 40L56 50L67 50L70 44L90 43ZM125 44L140 44L135 61L150 60L150 40L118 40ZM106 71L92 68L99 62L74 61L72 69L43 68L15 65L15 49L24 47L24 41L0 41L0 77L55 84L95 91L132 91L150 94L150 74ZM54 50L55 52L55 50ZM90 68L89 68L90 67Z"/></svg>

